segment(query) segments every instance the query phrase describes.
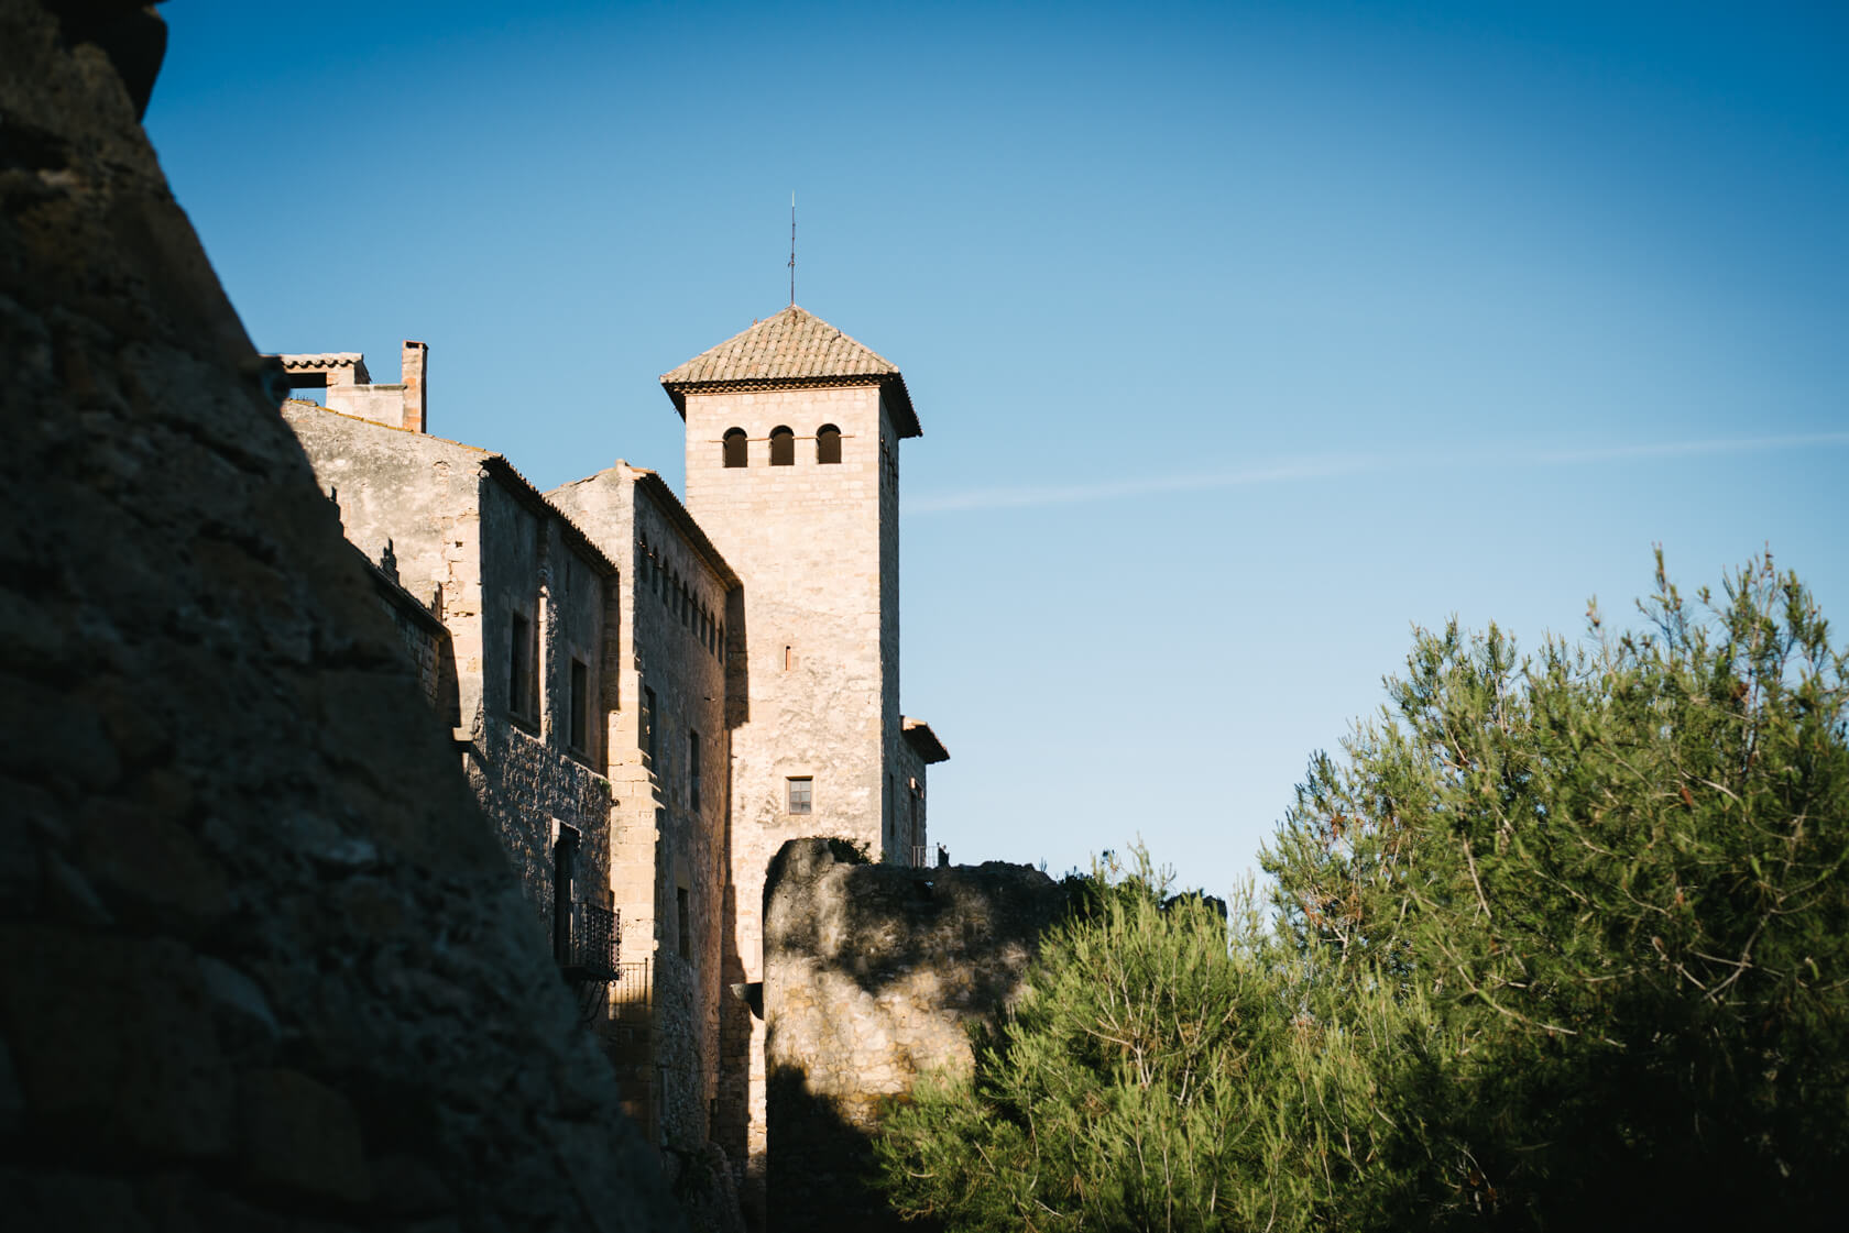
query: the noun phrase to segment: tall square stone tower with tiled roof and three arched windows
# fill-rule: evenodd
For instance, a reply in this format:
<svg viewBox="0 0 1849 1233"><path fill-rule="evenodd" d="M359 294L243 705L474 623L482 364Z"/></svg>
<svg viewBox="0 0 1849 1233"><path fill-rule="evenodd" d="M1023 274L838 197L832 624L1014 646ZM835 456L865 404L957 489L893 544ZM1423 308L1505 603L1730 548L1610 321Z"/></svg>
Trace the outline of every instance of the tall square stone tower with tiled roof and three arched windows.
<svg viewBox="0 0 1849 1233"><path fill-rule="evenodd" d="M947 754L899 710L899 442L921 429L899 368L795 305L662 386L686 420L688 512L741 582L727 614L729 965L749 989L786 841L841 837L900 863L924 845L924 765ZM725 1067L749 1074L745 1142L725 1146L758 1172L764 1024L747 1048L745 1022Z"/></svg>

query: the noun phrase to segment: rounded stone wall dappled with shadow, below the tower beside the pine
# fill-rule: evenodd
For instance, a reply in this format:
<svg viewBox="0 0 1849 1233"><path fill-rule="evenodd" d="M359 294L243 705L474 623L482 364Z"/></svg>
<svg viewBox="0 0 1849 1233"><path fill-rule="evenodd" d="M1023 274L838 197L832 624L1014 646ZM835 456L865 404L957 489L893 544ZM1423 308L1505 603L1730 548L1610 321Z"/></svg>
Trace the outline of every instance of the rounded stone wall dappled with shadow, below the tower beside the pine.
<svg viewBox="0 0 1849 1233"><path fill-rule="evenodd" d="M965 1026L998 1026L1067 889L1026 865L843 863L790 843L764 909L771 1229L888 1229L867 1189L882 1102L967 1068Z"/></svg>

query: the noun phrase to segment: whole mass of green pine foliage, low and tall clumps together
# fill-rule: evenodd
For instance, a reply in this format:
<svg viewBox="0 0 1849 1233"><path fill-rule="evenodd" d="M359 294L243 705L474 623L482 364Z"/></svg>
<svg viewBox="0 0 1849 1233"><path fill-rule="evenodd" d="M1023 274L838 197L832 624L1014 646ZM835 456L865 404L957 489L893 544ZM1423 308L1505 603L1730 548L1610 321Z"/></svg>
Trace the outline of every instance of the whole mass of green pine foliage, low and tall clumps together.
<svg viewBox="0 0 1849 1233"><path fill-rule="evenodd" d="M886 1122L949 1229L1838 1227L1849 673L1769 556L1524 656L1418 632L1222 921L1095 871Z"/></svg>

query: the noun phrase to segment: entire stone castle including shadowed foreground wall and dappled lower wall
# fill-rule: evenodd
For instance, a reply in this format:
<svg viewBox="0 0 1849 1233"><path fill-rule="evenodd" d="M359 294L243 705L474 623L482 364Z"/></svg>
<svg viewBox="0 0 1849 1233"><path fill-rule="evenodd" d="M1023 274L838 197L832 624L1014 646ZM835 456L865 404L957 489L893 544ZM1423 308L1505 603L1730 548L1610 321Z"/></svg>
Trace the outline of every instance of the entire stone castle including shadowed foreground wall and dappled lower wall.
<svg viewBox="0 0 1849 1233"><path fill-rule="evenodd" d="M152 7L0 46L7 1227L732 1231L734 1166L886 1227L880 1100L1059 911L928 860L899 372L791 307L667 373L686 505L536 492L427 433L422 344L257 355Z"/></svg>

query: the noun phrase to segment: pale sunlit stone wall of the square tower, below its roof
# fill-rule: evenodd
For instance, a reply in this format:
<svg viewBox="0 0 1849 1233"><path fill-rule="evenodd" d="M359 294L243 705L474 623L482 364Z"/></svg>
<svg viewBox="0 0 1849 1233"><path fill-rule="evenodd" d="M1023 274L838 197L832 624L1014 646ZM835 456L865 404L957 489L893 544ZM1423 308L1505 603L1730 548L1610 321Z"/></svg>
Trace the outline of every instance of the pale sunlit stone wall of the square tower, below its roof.
<svg viewBox="0 0 1849 1233"><path fill-rule="evenodd" d="M815 458L815 429L841 429L841 460ZM795 433L795 464L769 466L771 429ZM741 427L745 468L723 466ZM736 887L729 963L762 980L762 891L790 839L836 836L886 852L884 793L899 743L897 510L886 501L876 386L688 394L688 510L743 579L729 617L732 843ZM897 440L897 438L893 438ZM893 495L897 501L897 495ZM812 806L791 813L788 780L808 776ZM743 1128L747 1200L762 1202L764 1022L732 1007L721 1117ZM734 1144L727 1144L736 1150Z"/></svg>

